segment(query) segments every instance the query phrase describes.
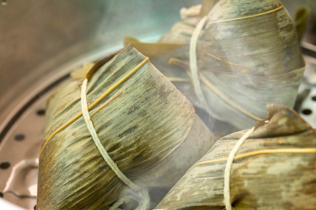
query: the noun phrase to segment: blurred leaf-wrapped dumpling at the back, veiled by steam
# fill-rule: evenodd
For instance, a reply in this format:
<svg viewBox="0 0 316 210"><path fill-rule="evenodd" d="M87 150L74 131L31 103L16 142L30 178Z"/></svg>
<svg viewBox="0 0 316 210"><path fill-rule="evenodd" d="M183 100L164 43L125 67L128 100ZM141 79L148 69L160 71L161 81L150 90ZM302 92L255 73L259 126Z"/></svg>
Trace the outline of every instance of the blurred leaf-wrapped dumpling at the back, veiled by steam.
<svg viewBox="0 0 316 210"><path fill-rule="evenodd" d="M187 45L174 50L170 62L189 70L186 79L211 116L245 129L265 117L267 104L294 106L305 63L295 26L280 1L221 0L207 16L195 14L182 22L197 19L190 28L194 31L182 33L181 24L175 25L180 34L192 36L190 42L183 38ZM181 37L174 31L161 41L179 44L170 38Z"/></svg>

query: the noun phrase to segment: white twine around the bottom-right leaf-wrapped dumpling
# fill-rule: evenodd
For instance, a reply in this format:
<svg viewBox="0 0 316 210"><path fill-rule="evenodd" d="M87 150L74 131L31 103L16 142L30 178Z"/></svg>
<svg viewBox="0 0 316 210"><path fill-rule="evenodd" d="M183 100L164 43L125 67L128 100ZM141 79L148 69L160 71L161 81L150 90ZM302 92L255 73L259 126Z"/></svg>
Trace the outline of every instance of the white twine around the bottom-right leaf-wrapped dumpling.
<svg viewBox="0 0 316 210"><path fill-rule="evenodd" d="M224 203L226 210L232 210L232 204L230 201L230 172L232 169L234 157L237 154L242 143L244 143L244 141L249 137L253 130L254 127L249 129L243 136L241 136L241 138L239 138L238 142L234 145L233 149L229 153L224 172Z"/></svg>

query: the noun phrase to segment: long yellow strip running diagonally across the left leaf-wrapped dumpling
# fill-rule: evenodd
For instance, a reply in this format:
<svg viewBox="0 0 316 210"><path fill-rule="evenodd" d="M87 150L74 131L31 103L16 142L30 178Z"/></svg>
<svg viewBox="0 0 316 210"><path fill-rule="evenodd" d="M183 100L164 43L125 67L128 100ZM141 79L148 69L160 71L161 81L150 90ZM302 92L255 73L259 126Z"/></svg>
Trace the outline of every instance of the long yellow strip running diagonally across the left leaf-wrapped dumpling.
<svg viewBox="0 0 316 210"><path fill-rule="evenodd" d="M114 84L112 87L110 87L106 92L104 92L96 101L94 101L91 105L88 106L88 110L90 110L93 106L95 106L97 103L99 103L103 98L105 98L107 95L109 95L115 88L117 88L119 85L121 85L125 80L127 80L131 75L133 75L142 65L144 65L147 61L149 60L148 57L145 57L145 59L143 61L141 61L140 63L138 63L131 72L129 72L127 75L125 75L119 82L117 82L116 84ZM72 119L70 119L69 121L67 121L66 123L64 123L63 125L61 125L59 128L57 128L54 132L52 132L48 138L46 139L46 141L44 142L42 149L39 153L39 156L41 156L44 147L46 146L46 144L48 143L48 141L54 136L56 135L58 132L60 132L61 130L63 130L64 128L66 128L68 125L70 125L71 123L73 123L75 120L77 120L79 117L82 116L82 112L80 112L79 114L77 114L76 116L74 116Z"/></svg>

